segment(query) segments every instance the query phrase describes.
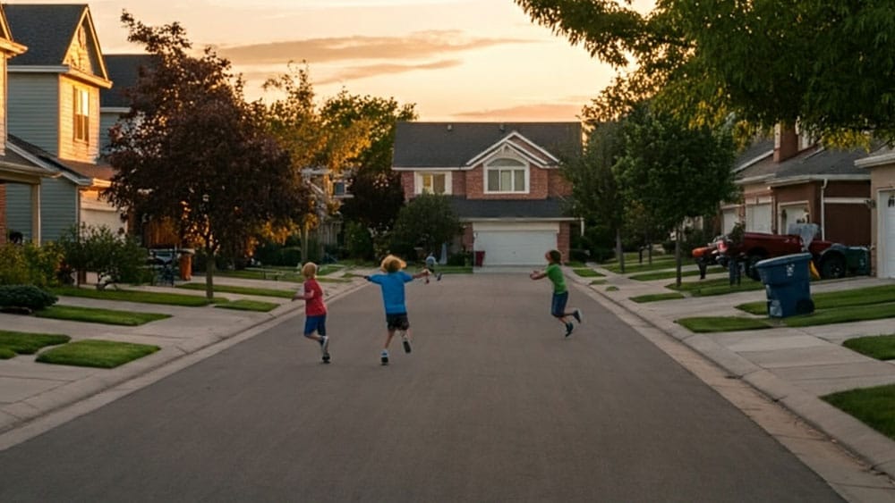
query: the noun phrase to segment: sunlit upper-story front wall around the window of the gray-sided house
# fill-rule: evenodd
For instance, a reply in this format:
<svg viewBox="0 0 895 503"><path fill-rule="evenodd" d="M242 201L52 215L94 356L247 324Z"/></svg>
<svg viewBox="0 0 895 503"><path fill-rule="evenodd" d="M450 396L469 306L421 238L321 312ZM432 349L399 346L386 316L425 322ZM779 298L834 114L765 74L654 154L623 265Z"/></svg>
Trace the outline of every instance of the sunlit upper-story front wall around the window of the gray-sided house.
<svg viewBox="0 0 895 503"><path fill-rule="evenodd" d="M74 90L90 93L90 141L74 139ZM94 163L99 155L99 89L67 77L59 79L59 158Z"/></svg>

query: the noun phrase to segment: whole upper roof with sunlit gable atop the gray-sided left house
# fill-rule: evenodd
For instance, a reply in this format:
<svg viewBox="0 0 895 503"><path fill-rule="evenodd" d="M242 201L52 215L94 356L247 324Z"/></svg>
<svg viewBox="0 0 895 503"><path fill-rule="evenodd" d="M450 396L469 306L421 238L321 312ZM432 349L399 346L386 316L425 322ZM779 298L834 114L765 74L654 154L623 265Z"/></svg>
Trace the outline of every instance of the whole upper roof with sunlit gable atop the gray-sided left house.
<svg viewBox="0 0 895 503"><path fill-rule="evenodd" d="M108 80L90 7L86 4L7 4L10 27L29 51L10 62L21 66L68 65Z"/></svg>

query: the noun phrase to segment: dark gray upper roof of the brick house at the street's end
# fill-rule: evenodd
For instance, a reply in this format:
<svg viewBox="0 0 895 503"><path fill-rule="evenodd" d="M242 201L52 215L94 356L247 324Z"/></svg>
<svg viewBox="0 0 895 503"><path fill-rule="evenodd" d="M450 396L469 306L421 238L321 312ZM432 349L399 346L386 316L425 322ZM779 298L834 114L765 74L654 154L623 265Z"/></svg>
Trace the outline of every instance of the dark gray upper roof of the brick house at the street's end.
<svg viewBox="0 0 895 503"><path fill-rule="evenodd" d="M579 122L398 122L392 166L464 166L514 131L557 157L581 152Z"/></svg>

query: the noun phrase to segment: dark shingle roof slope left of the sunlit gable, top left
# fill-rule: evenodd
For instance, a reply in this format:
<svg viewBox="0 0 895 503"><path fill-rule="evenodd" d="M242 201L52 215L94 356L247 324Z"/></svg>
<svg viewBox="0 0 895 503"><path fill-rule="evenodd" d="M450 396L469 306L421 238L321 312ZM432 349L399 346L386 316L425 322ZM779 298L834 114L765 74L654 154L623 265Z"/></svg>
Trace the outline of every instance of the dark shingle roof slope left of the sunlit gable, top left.
<svg viewBox="0 0 895 503"><path fill-rule="evenodd" d="M62 64L86 8L86 4L4 4L13 37L28 46L28 52L9 65Z"/></svg>

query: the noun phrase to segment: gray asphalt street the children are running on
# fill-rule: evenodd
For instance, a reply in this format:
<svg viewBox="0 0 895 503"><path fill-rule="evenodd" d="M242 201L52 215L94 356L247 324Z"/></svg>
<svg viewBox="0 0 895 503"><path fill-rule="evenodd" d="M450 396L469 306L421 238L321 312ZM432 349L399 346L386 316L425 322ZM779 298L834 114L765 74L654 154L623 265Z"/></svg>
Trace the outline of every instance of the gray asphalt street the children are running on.
<svg viewBox="0 0 895 503"><path fill-rule="evenodd" d="M413 353L379 365L374 286L0 452L2 501L839 501L796 457L573 287L408 285Z"/></svg>

